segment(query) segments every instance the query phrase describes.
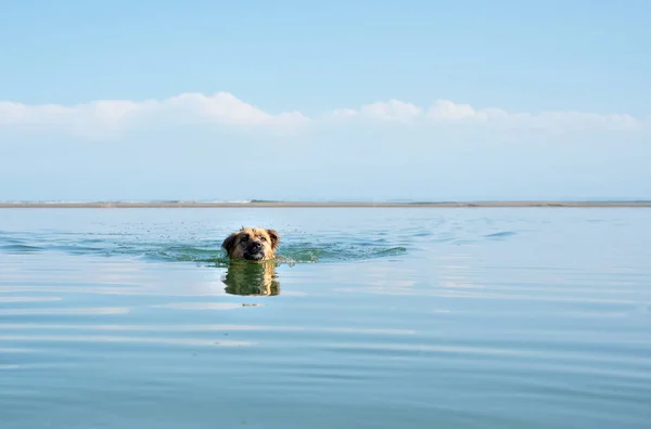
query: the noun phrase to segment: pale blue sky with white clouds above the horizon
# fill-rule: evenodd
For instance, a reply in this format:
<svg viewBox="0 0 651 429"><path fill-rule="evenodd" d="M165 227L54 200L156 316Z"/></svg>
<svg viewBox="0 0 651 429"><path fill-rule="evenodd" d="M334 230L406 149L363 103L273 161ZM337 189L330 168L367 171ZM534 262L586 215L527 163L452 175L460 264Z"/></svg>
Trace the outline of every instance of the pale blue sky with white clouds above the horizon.
<svg viewBox="0 0 651 429"><path fill-rule="evenodd" d="M648 16L7 1L0 200L651 199Z"/></svg>

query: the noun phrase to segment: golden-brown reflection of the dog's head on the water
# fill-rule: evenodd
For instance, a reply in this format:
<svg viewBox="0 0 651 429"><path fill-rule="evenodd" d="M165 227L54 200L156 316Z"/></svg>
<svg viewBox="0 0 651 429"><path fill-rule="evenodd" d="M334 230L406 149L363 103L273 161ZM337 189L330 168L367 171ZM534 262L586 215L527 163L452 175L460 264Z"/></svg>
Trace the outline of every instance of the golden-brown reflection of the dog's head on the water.
<svg viewBox="0 0 651 429"><path fill-rule="evenodd" d="M231 295L269 297L280 294L276 261L231 261L222 283Z"/></svg>

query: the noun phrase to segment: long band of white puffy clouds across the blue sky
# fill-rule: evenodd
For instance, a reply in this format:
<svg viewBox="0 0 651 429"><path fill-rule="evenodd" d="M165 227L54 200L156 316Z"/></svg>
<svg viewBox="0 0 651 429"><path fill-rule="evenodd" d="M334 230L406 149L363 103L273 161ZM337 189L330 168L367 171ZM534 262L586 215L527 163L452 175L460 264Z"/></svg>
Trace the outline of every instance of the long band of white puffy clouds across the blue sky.
<svg viewBox="0 0 651 429"><path fill-rule="evenodd" d="M218 125L272 132L301 132L316 126L336 127L345 123L499 127L550 131L639 131L650 128L649 119L626 114L563 110L513 113L500 108L475 108L447 100L436 100L426 107L390 100L358 108L337 108L312 117L299 112L268 113L228 92L213 95L183 93L165 100L101 100L72 106L0 102L0 130L60 130L77 135L101 136L138 127L170 123Z"/></svg>

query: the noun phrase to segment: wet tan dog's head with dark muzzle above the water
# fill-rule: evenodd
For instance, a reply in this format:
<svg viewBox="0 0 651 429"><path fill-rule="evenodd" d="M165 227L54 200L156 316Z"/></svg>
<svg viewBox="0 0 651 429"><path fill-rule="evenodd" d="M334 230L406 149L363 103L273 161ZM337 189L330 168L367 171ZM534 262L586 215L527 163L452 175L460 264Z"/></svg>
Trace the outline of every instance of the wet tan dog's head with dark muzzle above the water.
<svg viewBox="0 0 651 429"><path fill-rule="evenodd" d="M221 247L230 259L248 261L266 261L276 257L276 248L280 242L278 233L261 227L242 227L229 235Z"/></svg>

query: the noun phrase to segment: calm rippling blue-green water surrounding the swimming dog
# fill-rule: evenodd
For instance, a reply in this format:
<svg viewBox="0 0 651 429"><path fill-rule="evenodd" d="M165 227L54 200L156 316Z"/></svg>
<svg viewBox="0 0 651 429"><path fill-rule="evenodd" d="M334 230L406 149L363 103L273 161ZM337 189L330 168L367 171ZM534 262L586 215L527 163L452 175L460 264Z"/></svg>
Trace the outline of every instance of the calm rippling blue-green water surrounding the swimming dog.
<svg viewBox="0 0 651 429"><path fill-rule="evenodd" d="M0 210L1 428L648 428L650 221Z"/></svg>

